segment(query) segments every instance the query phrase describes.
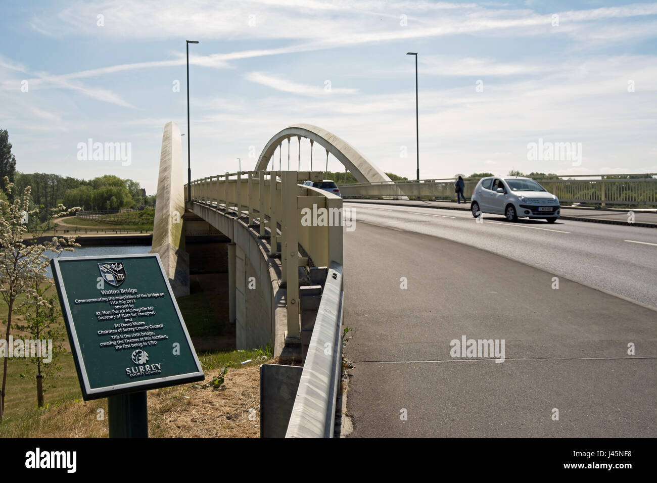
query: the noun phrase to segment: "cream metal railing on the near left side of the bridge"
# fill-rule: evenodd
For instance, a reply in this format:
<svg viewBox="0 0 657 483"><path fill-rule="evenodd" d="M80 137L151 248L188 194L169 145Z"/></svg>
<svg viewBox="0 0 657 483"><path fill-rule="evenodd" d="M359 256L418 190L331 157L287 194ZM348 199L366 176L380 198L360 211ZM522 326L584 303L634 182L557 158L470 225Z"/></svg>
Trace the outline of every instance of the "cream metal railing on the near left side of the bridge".
<svg viewBox="0 0 657 483"><path fill-rule="evenodd" d="M299 184L321 179L322 172L249 171L191 183L194 202L248 223L261 239L269 239L271 256L281 258L288 337L300 336L299 267L342 265L342 198Z"/></svg>

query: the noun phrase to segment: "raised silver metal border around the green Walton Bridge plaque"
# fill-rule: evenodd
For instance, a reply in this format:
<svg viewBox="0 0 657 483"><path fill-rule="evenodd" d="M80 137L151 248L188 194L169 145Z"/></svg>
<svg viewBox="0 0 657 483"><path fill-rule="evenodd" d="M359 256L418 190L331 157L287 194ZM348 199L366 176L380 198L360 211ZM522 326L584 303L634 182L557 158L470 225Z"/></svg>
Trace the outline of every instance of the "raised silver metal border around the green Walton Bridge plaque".
<svg viewBox="0 0 657 483"><path fill-rule="evenodd" d="M194 363L196 363L196 372L179 374L175 376L166 376L158 377L154 379L147 379L134 382L124 382L122 384L115 384L113 386L103 386L92 388L89 384L89 377L87 376L87 367L85 366L84 359L82 357L82 351L80 349L78 333L76 332L76 326L73 321L73 315L71 313L71 308L68 304L68 296L66 294L66 284L62 279L62 273L60 271L59 265L67 262L76 262L79 260L122 260L125 258L155 258L160 267L160 272L162 273L162 278L164 283L169 291L170 300L173 303L173 308L178 315L178 322L183 329L187 344L191 350L191 354L194 358ZM196 382L205 379L205 374L198 361L198 356L196 355L196 350L194 350L194 344L187 332L187 326L183 320L183 315L180 313L180 309L173 296L173 290L171 290L171 285L169 283L169 277L164 272L164 267L162 266L162 260L160 260L160 255L157 253L149 254L130 254L130 255L108 255L108 256L81 256L81 257L66 257L66 258L53 258L51 260L51 269L53 270L53 279L55 280L55 287L57 287L57 295L59 296L59 302L62 306L62 315L64 317L64 323L66 324L66 331L68 333L68 340L71 345L71 352L73 354L73 359L76 363L76 371L78 372L78 379L80 382L80 389L82 390L82 397L85 401L95 400L100 398L106 398L108 396L115 396L118 394L127 394L129 392L139 392L150 389L157 389L166 386L175 386L177 384L185 384L187 382Z"/></svg>

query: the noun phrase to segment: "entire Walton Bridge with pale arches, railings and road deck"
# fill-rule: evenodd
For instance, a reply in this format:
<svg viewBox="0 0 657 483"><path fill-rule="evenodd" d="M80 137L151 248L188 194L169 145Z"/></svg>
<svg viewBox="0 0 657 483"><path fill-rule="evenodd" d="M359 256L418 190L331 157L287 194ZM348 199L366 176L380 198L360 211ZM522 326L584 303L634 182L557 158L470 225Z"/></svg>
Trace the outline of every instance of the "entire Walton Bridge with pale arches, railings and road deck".
<svg viewBox="0 0 657 483"><path fill-rule="evenodd" d="M441 201L453 180L394 183L307 124L271 137L252 171L194 180L187 199L174 181L179 134L164 128L153 251L185 296L186 239L225 237L237 348L271 341L283 363L303 363L261 370L266 435L332 436L342 407L351 436L654 436L654 212L637 213L642 226L476 223ZM302 185L322 172L312 160L300 170L300 155L283 170L281 145L294 137L340 160L359 181L343 195L361 199ZM647 178L562 185L579 202L657 199ZM355 368L340 401L347 325ZM470 340L500 342L501 354L469 354Z"/></svg>

